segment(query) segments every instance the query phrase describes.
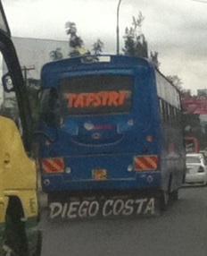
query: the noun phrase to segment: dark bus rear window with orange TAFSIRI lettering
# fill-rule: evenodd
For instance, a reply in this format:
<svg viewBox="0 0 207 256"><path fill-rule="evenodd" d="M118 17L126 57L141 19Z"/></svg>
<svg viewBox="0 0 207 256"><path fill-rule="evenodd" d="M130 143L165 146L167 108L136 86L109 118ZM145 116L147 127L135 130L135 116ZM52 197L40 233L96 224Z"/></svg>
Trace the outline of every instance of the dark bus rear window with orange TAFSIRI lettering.
<svg viewBox="0 0 207 256"><path fill-rule="evenodd" d="M62 80L65 115L128 113L132 86L129 75L87 75Z"/></svg>

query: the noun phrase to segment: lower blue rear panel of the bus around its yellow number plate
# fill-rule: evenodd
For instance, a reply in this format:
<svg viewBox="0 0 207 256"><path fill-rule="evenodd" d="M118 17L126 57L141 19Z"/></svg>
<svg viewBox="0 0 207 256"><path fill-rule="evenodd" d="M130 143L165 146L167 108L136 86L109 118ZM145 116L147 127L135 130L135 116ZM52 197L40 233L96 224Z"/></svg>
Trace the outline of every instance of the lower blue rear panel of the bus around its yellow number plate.
<svg viewBox="0 0 207 256"><path fill-rule="evenodd" d="M149 158L149 157L148 157ZM55 159L55 158L54 158ZM53 158L43 161L53 165ZM46 164L45 164L46 165ZM158 169L133 170L134 155L96 155L64 158L63 174L53 174L50 169L46 172L44 166L43 184L47 183L49 191L77 191L77 190L130 190L160 185L161 175ZM62 187L60 187L62 183Z"/></svg>

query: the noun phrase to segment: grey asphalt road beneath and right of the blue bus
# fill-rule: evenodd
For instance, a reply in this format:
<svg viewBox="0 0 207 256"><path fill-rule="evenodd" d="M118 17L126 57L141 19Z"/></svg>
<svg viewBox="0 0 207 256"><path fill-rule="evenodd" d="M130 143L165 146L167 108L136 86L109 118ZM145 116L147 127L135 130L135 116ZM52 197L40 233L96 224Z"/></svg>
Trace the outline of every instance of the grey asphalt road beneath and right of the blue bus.
<svg viewBox="0 0 207 256"><path fill-rule="evenodd" d="M160 217L50 223L42 256L206 256L207 187L180 190Z"/></svg>

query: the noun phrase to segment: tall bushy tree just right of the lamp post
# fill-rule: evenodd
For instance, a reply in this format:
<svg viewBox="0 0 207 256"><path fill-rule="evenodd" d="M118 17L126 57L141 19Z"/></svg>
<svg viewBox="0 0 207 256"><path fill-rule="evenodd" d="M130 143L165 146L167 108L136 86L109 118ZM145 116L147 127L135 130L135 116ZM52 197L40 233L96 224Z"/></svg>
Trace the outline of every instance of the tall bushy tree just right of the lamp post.
<svg viewBox="0 0 207 256"><path fill-rule="evenodd" d="M138 13L137 19L132 17L132 27L125 30L124 38L124 55L148 57L148 46L145 35L142 33L141 27L145 17L141 12Z"/></svg>

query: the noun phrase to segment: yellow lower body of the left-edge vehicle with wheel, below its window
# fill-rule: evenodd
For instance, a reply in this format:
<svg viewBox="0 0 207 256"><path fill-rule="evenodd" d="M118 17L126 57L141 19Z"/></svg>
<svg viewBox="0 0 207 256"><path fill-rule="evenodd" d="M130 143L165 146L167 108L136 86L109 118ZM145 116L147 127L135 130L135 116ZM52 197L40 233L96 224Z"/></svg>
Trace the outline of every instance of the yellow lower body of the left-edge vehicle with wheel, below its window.
<svg viewBox="0 0 207 256"><path fill-rule="evenodd" d="M35 162L26 155L16 124L4 116L0 138L0 255L37 255Z"/></svg>

